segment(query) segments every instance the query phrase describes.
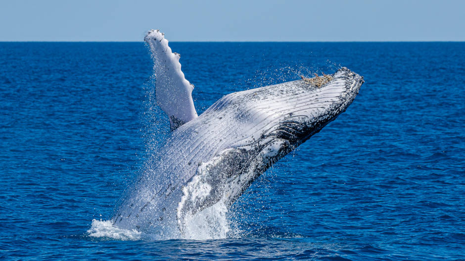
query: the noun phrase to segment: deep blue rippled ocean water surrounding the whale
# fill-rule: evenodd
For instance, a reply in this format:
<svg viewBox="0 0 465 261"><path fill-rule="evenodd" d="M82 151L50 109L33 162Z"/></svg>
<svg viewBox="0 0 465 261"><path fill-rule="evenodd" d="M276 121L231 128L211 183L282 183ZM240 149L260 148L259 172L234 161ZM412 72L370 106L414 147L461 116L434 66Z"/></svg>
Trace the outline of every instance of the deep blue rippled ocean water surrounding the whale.
<svg viewBox="0 0 465 261"><path fill-rule="evenodd" d="M93 237L169 135L143 43L0 43L0 259L465 260L465 43L170 43L199 114L228 93L365 77L234 203L233 238Z"/></svg>

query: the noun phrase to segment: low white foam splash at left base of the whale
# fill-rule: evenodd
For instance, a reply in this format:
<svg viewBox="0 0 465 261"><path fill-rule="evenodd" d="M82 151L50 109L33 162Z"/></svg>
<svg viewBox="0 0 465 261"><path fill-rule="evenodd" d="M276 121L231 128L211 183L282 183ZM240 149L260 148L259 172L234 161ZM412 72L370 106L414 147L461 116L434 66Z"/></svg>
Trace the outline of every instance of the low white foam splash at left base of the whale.
<svg viewBox="0 0 465 261"><path fill-rule="evenodd" d="M139 240L142 233L136 229L121 229L113 225L111 221L93 220L91 228L87 230L89 236L111 238L117 240Z"/></svg>

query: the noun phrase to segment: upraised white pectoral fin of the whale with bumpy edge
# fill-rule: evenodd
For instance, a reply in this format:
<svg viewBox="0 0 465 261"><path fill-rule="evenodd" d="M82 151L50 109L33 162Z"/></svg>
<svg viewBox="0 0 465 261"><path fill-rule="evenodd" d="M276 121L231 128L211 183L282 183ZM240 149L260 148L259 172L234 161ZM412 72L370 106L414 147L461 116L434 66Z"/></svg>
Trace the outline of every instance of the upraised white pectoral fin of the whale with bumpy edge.
<svg viewBox="0 0 465 261"><path fill-rule="evenodd" d="M194 86L186 80L181 71L181 55L171 51L163 33L150 30L144 40L150 45L155 63L157 104L168 114L171 130L175 130L197 117L192 100Z"/></svg>

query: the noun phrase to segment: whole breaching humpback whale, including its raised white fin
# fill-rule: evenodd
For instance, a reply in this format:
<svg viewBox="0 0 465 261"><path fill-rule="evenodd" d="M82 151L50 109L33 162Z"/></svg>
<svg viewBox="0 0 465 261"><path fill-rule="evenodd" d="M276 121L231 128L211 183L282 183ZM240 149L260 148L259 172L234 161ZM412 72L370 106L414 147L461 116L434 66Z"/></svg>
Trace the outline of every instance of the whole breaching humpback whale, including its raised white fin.
<svg viewBox="0 0 465 261"><path fill-rule="evenodd" d="M197 116L179 55L158 30L145 41L155 60L157 103L174 131L112 221L162 237L183 237L189 221L212 206L226 211L267 168L344 112L363 83L341 68L320 87L296 80L235 92Z"/></svg>

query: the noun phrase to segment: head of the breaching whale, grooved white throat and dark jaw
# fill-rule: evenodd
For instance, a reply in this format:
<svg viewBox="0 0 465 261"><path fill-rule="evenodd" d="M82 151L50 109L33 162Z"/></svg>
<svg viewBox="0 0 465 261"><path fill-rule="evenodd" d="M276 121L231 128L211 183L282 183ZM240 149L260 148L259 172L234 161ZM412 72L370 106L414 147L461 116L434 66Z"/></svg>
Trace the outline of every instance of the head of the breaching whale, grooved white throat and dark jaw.
<svg viewBox="0 0 465 261"><path fill-rule="evenodd" d="M238 132L250 137L239 139L232 147L281 139L288 149L295 149L344 112L363 82L362 76L341 68L333 75L233 93L217 104L235 107Z"/></svg>

